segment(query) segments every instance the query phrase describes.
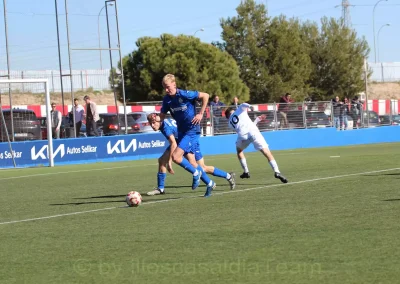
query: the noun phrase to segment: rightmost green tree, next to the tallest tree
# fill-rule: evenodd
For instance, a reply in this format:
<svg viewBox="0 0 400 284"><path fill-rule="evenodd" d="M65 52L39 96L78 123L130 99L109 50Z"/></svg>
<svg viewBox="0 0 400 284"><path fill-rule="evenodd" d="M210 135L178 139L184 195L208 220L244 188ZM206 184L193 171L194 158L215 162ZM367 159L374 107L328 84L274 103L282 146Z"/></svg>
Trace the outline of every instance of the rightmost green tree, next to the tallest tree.
<svg viewBox="0 0 400 284"><path fill-rule="evenodd" d="M312 62L309 84L315 99L351 97L364 90L364 58L369 53L364 38L357 38L354 30L333 18L323 18L320 29L315 23L305 23L302 34Z"/></svg>

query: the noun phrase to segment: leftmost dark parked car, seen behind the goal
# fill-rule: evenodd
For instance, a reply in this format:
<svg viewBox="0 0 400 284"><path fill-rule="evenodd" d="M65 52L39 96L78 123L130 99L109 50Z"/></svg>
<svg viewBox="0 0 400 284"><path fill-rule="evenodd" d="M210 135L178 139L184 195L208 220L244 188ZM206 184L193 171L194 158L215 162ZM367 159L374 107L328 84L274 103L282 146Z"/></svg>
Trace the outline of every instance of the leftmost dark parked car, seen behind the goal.
<svg viewBox="0 0 400 284"><path fill-rule="evenodd" d="M12 110L13 126L14 126L14 141L25 140L40 140L42 139L42 132L40 131L40 121L36 117L33 110L29 109L13 109ZM11 128L11 110L3 109L4 121L7 126L7 132L12 141L12 128ZM1 141L7 141L7 134L0 116L0 137Z"/></svg>

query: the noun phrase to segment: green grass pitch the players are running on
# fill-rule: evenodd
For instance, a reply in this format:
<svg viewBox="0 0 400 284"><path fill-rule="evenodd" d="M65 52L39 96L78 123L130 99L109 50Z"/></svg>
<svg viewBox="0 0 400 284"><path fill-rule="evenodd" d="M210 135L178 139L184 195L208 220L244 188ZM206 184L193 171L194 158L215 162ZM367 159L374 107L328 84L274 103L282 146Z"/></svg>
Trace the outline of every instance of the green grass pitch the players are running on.
<svg viewBox="0 0 400 284"><path fill-rule="evenodd" d="M0 283L397 283L399 147L274 152L287 185L248 153L251 179L211 198L175 166L138 208L124 196L156 185L155 160L1 171Z"/></svg>

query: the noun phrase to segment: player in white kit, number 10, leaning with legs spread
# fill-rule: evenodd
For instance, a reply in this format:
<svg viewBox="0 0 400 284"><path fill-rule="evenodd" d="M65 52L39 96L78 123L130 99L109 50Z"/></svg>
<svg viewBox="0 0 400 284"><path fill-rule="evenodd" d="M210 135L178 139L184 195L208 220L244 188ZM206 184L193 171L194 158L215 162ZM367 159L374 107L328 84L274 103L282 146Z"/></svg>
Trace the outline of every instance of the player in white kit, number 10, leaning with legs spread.
<svg viewBox="0 0 400 284"><path fill-rule="evenodd" d="M238 134L236 140L236 152L244 170L243 174L240 175L240 178L250 178L249 168L247 167L246 157L244 156L243 150L253 143L254 148L259 150L268 159L269 164L275 172L275 178L280 179L283 183L287 183L288 180L279 171L278 164L276 163L274 156L272 156L267 142L256 126L259 118L253 122L247 113L249 108L249 104L243 103L236 111L233 108L227 108L225 110L225 116L228 119L229 127L235 130Z"/></svg>

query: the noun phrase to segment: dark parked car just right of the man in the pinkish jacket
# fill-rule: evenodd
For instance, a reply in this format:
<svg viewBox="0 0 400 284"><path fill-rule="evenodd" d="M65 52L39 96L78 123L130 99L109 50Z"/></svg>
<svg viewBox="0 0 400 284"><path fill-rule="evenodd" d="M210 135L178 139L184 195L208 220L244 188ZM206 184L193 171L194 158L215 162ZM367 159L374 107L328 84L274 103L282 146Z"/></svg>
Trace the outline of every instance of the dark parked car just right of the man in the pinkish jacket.
<svg viewBox="0 0 400 284"><path fill-rule="evenodd" d="M103 135L125 134L125 127L128 134L139 132L140 126L136 125L132 115L127 115L128 125L125 126L125 117L123 114L101 113L98 126L102 128Z"/></svg>

